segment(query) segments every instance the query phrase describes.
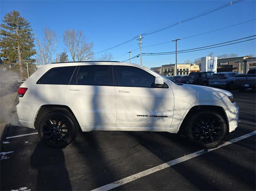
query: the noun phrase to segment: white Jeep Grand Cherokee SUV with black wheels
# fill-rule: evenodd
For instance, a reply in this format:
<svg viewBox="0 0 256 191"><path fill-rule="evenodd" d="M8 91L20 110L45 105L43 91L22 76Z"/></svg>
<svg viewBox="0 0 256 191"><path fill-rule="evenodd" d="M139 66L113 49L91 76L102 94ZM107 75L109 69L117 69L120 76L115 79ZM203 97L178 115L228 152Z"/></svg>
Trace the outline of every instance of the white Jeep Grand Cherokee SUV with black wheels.
<svg viewBox="0 0 256 191"><path fill-rule="evenodd" d="M182 131L206 148L238 125L232 93L175 84L140 65L70 62L41 67L18 89L20 123L53 147L82 131Z"/></svg>

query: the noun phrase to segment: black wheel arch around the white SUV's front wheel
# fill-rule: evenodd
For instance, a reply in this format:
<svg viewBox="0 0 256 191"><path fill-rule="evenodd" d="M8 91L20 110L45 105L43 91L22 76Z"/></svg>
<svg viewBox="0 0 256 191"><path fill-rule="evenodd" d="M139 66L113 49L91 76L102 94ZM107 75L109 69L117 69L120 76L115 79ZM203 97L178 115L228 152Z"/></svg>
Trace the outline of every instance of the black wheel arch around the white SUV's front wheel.
<svg viewBox="0 0 256 191"><path fill-rule="evenodd" d="M201 110L206 110L206 109L210 110L210 111L218 112L224 118L224 120L226 121L226 124L227 124L227 128L228 128L227 134L229 134L228 116L227 116L224 108L222 108L221 106L216 106L216 105L197 105L197 106L193 106L192 108L190 108L190 110L186 114L185 118L183 119L178 132L184 134L186 124L188 123L189 118L196 112L199 112Z"/></svg>

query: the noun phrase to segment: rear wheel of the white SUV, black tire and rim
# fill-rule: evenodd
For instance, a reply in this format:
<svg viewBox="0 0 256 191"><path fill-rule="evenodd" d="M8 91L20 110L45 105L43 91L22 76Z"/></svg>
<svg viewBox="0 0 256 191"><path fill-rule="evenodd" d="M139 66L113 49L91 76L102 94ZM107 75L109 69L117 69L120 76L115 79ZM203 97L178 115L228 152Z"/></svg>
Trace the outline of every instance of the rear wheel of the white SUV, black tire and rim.
<svg viewBox="0 0 256 191"><path fill-rule="evenodd" d="M58 122L57 122L58 121ZM38 135L48 146L64 148L77 136L78 123L69 112L50 112L38 124Z"/></svg>

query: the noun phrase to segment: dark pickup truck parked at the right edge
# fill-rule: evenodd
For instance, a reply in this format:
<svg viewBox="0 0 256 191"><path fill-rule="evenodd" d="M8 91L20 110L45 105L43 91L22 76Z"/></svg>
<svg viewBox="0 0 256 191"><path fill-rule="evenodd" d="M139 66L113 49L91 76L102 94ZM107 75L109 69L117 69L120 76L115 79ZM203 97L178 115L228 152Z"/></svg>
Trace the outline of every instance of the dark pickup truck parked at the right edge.
<svg viewBox="0 0 256 191"><path fill-rule="evenodd" d="M245 91L248 88L255 89L256 84L256 68L252 68L247 74L240 74L235 76L235 87L239 91Z"/></svg>

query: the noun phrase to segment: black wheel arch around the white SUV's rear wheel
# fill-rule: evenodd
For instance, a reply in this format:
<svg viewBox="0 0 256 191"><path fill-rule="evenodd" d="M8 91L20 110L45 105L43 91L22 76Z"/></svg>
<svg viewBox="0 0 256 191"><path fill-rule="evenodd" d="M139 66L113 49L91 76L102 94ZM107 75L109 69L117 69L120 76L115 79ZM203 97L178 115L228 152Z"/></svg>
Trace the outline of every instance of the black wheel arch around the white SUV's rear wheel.
<svg viewBox="0 0 256 191"><path fill-rule="evenodd" d="M74 118L76 119L76 122L79 125L79 128L81 128L81 124L80 124L78 118L76 117L76 115L74 114L74 112L72 111L72 109L69 106L58 105L58 104L44 104L44 105L40 106L40 108L38 109L37 114L34 118L35 129L37 129L37 127L38 127L40 118L42 118L44 115L46 115L50 112L56 112L56 111L68 112L68 113L72 114L74 116Z"/></svg>

